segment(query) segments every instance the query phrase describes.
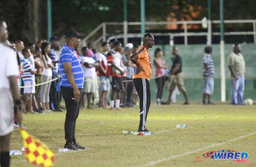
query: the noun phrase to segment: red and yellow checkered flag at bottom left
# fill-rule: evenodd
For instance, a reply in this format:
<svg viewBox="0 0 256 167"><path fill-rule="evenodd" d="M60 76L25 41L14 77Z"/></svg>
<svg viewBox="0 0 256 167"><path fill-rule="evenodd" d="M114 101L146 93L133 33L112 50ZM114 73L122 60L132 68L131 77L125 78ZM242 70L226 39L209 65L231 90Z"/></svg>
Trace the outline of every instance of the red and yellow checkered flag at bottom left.
<svg viewBox="0 0 256 167"><path fill-rule="evenodd" d="M29 134L24 129L20 129L23 136L23 143L28 162L40 166L53 166L54 154L40 140Z"/></svg>

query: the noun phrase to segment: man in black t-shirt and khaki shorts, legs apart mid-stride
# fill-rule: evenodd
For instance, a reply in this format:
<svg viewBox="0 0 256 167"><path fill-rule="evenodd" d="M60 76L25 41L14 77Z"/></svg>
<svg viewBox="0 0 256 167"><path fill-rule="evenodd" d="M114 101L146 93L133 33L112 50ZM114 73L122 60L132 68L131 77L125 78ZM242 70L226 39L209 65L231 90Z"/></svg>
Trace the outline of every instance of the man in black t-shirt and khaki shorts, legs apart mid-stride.
<svg viewBox="0 0 256 167"><path fill-rule="evenodd" d="M170 104L170 97L172 96L172 93L177 86L179 91L181 91L184 95L185 102L184 105L188 105L188 98L186 94L186 89L184 87L184 81L183 81L183 72L182 72L182 61L181 57L178 54L178 47L174 46L172 50L172 54L174 55L175 59L173 62L172 69L170 71L170 90L169 90L169 95L168 95L168 101L166 102L167 104Z"/></svg>

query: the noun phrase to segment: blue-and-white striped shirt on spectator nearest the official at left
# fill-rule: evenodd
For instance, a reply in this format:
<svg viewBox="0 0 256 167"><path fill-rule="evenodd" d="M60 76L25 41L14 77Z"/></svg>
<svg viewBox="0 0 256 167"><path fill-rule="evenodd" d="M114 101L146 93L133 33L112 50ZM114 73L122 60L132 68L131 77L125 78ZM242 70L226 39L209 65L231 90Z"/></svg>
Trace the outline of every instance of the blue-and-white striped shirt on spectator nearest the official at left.
<svg viewBox="0 0 256 167"><path fill-rule="evenodd" d="M24 69L24 73L22 74L23 81L33 81L35 79L35 75L29 72L32 70L32 64L30 63L29 59L24 57L21 62L22 68Z"/></svg>

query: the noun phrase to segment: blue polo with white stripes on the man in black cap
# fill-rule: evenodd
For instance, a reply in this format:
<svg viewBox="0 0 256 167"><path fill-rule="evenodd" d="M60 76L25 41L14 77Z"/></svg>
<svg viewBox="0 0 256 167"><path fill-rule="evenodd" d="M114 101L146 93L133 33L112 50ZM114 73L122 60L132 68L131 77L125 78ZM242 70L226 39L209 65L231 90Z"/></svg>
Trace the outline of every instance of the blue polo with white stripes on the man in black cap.
<svg viewBox="0 0 256 167"><path fill-rule="evenodd" d="M59 72L62 77L60 86L72 88L68 81L65 70L63 68L63 63L65 62L72 63L72 73L74 75L77 88L83 88L83 70L77 57L77 54L74 51L74 49L72 49L68 45L63 44L63 47L59 55Z"/></svg>

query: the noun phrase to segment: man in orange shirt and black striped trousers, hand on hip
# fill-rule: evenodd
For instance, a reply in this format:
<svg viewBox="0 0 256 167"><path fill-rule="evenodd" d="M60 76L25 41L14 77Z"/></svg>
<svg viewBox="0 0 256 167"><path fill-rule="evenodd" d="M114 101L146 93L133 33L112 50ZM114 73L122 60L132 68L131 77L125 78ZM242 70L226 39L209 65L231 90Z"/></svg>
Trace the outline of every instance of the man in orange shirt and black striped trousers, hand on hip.
<svg viewBox="0 0 256 167"><path fill-rule="evenodd" d="M140 123L138 132L148 132L146 129L146 118L150 109L150 77L151 60L147 49L155 45L154 37L147 33L142 37L143 45L134 53L130 60L136 64L133 83L140 98Z"/></svg>

